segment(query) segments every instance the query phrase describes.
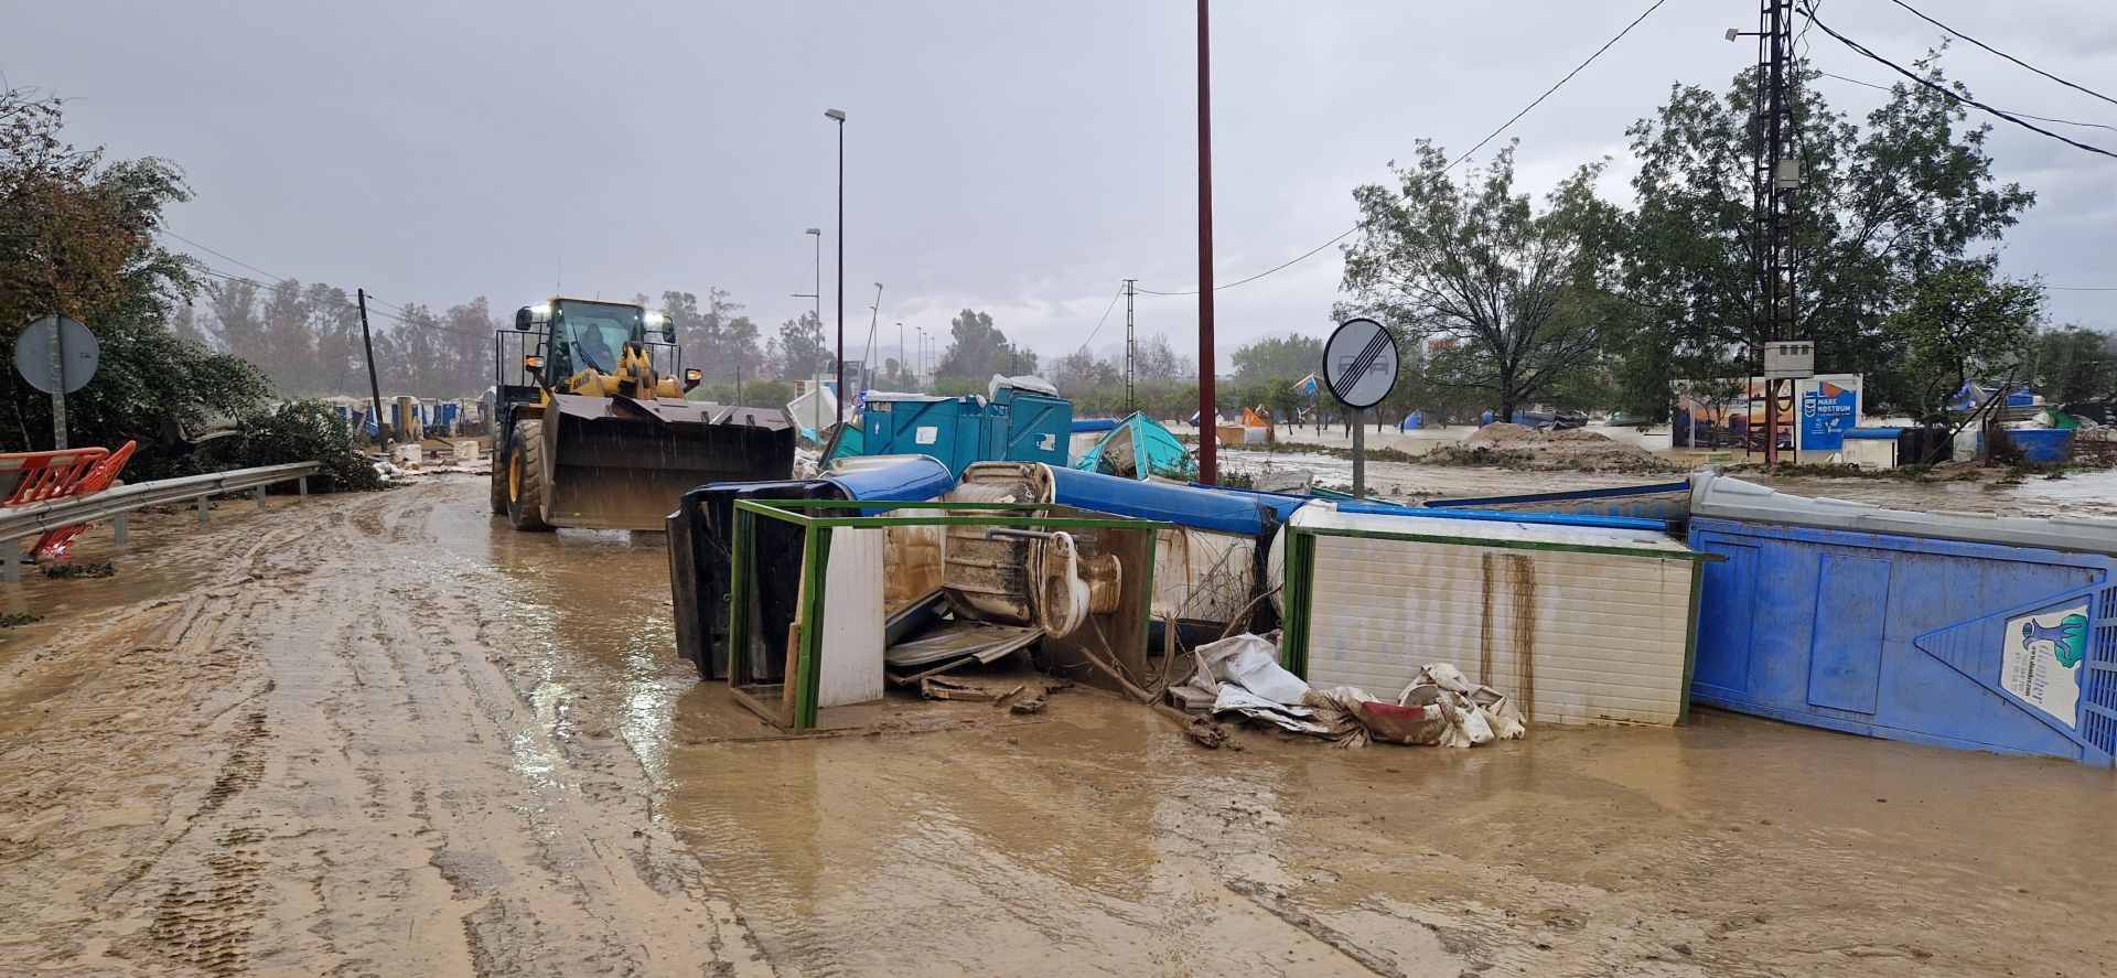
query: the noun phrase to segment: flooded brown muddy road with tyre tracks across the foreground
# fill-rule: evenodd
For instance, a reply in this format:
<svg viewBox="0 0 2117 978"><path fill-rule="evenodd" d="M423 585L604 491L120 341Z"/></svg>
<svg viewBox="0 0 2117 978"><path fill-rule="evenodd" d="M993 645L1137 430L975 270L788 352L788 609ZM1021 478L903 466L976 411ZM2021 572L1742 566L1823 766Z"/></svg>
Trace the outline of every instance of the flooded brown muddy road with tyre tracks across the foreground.
<svg viewBox="0 0 2117 978"><path fill-rule="evenodd" d="M0 591L0 974L2109 974L2117 777L1702 713L1473 751L775 739L485 483Z"/></svg>

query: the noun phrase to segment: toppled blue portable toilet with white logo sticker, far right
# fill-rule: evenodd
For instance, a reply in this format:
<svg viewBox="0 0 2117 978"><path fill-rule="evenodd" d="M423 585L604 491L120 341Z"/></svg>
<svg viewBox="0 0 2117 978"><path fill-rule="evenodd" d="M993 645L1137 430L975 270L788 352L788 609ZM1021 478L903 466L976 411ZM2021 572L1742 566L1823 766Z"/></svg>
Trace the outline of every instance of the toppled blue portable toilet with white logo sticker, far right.
<svg viewBox="0 0 2117 978"><path fill-rule="evenodd" d="M1691 699L1829 730L2111 766L2117 521L1691 485Z"/></svg>

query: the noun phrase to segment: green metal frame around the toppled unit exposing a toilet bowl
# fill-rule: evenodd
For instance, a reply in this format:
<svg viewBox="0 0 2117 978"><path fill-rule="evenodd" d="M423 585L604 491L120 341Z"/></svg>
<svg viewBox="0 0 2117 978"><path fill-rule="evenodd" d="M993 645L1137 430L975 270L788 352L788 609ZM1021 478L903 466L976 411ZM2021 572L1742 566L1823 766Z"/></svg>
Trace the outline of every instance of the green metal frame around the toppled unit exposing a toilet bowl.
<svg viewBox="0 0 2117 978"><path fill-rule="evenodd" d="M991 512L991 517L813 517L800 510L955 510L955 512ZM1065 517L1050 514L1050 510L1067 510L1058 504L1048 502L879 502L879 500L737 500L735 502L735 540L730 546L730 567L728 567L728 686L737 696L747 699L739 686L741 669L735 665L737 656L747 654L752 631L756 622L752 620L749 601L743 601L754 582L752 567L756 563L756 521L773 519L781 523L792 523L802 527L802 601L800 601L800 656L798 675L788 675L794 684L794 716L785 718L788 726L796 732L813 730L817 724L817 682L819 663L824 652L824 576L830 569L830 533L832 529L879 529L879 527L1020 527L1020 529L1141 529L1147 531L1147 593L1154 593L1154 546L1156 536L1162 529L1173 529L1175 523L1150 521L1150 519L1128 519L1128 517ZM1073 510L1078 512L1078 510ZM1147 622L1152 614L1141 616L1139 641L1147 641ZM749 701L754 709L768 716L779 716L777 709L768 705Z"/></svg>

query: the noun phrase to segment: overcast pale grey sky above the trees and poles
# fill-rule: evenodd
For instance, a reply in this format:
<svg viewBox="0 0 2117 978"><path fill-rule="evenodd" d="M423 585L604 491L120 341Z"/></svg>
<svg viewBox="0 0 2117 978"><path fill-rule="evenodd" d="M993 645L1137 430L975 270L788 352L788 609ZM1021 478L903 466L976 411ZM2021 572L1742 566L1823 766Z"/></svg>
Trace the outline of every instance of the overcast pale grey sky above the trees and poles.
<svg viewBox="0 0 2117 978"><path fill-rule="evenodd" d="M1450 150L1528 104L1649 0L1262 2L1213 11L1217 275L1279 265L1355 220L1349 191L1418 138ZM2049 72L2117 89L2109 0L1914 0ZM1611 155L1672 83L1723 89L1755 0L1670 0L1507 135L1543 188ZM946 332L993 313L1044 354L1078 347L1118 282L1196 286L1194 21L1152 2L97 2L11 4L0 72L68 99L76 142L167 157L197 199L171 227L275 275L447 307L553 292L720 286L775 330L809 305L807 227L834 220L847 138L847 337ZM1825 21L1912 59L1939 32L1884 0ZM1810 36L1819 68L1884 68ZM1956 44L1996 106L2117 125L2117 106ZM1865 112L1882 93L1825 80ZM2060 127L2117 148L2117 131ZM2117 286L2117 159L1998 123L2003 180L2039 193L2005 265ZM824 241L826 322L832 248ZM227 271L243 271L205 256ZM1219 292L1219 362L1327 328L1336 248ZM2053 292L2060 322L2117 326L2117 292ZM1122 337L1122 307L1094 347ZM1190 298L1141 296L1143 334L1196 349ZM855 343L857 337L857 343Z"/></svg>

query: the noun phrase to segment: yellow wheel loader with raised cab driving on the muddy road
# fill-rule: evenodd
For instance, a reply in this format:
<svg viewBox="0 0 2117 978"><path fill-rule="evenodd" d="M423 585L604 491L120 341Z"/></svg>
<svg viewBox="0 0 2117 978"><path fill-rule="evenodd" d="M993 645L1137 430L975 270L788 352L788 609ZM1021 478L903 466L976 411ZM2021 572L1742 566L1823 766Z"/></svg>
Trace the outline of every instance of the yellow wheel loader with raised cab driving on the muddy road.
<svg viewBox="0 0 2117 978"><path fill-rule="evenodd" d="M639 305L525 305L493 373L491 504L514 529L663 529L699 485L794 472L785 411L686 400L701 370Z"/></svg>

